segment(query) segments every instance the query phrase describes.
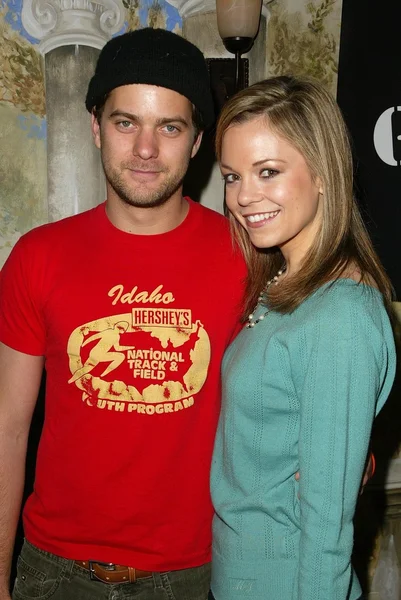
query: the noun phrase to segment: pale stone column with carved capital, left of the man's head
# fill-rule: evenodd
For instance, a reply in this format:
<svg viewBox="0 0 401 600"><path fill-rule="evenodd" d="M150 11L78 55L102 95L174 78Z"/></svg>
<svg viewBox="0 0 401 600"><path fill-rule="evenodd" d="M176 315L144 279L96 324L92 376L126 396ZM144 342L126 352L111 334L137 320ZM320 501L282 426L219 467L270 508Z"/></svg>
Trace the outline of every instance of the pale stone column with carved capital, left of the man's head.
<svg viewBox="0 0 401 600"><path fill-rule="evenodd" d="M120 0L23 0L22 23L45 58L49 220L105 199L85 95L99 50L120 31Z"/></svg>

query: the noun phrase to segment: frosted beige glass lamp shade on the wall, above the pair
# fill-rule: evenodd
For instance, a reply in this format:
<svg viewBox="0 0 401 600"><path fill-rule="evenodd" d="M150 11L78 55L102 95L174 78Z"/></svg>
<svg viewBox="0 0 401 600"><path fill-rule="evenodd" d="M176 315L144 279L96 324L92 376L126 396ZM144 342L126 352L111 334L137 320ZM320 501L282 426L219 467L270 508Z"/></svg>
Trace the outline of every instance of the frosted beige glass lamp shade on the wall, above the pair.
<svg viewBox="0 0 401 600"><path fill-rule="evenodd" d="M259 27L262 0L216 0L220 37L253 39Z"/></svg>

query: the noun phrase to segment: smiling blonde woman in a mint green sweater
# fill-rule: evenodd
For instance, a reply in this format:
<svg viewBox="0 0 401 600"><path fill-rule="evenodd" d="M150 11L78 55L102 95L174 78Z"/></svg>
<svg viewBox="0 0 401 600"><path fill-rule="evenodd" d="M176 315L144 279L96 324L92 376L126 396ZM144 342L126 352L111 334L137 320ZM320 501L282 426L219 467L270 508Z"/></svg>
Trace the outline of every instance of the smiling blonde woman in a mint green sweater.
<svg viewBox="0 0 401 600"><path fill-rule="evenodd" d="M277 77L226 104L216 143L249 280L222 370L211 598L356 600L352 519L395 350L346 128L322 86Z"/></svg>

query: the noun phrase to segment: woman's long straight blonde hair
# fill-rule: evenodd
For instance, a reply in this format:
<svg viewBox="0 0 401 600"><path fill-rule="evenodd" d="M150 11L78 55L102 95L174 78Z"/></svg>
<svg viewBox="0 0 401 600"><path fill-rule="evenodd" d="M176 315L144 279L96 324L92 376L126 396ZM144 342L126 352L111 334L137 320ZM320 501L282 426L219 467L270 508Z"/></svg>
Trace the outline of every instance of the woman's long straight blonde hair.
<svg viewBox="0 0 401 600"><path fill-rule="evenodd" d="M323 184L321 229L301 269L269 289L269 307L291 312L323 283L352 266L360 271L361 282L374 281L391 314L392 286L353 196L349 135L337 103L321 84L309 79L281 76L256 83L223 107L216 131L219 160L226 130L261 116L303 155L312 176ZM229 219L248 265L246 315L266 281L282 266L283 256L278 248L256 249L231 214Z"/></svg>

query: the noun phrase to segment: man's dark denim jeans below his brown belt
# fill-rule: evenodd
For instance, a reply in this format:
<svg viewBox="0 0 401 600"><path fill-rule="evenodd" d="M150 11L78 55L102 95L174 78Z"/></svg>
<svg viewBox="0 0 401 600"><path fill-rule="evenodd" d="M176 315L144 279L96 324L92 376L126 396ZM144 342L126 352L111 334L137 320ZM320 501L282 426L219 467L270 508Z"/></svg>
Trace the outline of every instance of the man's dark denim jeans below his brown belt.
<svg viewBox="0 0 401 600"><path fill-rule="evenodd" d="M92 581L72 560L25 541L17 565L13 600L207 600L210 564L153 573L135 583Z"/></svg>

